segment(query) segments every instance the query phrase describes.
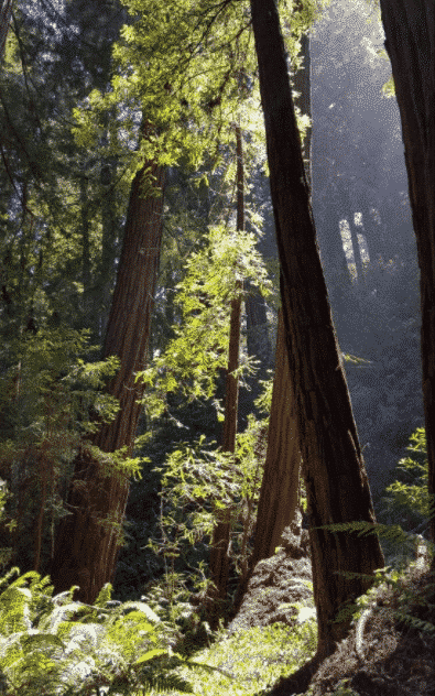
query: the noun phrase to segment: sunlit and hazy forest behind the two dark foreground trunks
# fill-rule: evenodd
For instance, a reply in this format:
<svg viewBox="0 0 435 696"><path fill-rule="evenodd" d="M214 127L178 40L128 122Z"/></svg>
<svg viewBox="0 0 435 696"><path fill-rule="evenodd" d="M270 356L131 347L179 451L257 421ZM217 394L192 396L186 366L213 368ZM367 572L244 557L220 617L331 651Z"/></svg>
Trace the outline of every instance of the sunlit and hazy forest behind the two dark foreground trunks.
<svg viewBox="0 0 435 696"><path fill-rule="evenodd" d="M50 575L86 605L146 601L200 644L252 558L309 523L249 4L0 6L2 575L34 572L37 597ZM355 0L280 11L376 516L428 540L420 274L382 24ZM254 551L268 457L297 474Z"/></svg>

